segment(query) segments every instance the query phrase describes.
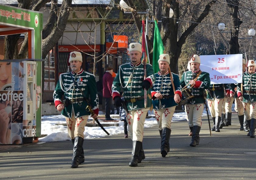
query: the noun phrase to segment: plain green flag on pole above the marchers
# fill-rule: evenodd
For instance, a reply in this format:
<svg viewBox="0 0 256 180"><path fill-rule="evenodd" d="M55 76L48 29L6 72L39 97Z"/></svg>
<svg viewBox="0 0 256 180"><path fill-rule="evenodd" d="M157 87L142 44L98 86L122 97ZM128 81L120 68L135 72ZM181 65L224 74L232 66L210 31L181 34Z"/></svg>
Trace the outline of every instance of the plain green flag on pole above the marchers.
<svg viewBox="0 0 256 180"><path fill-rule="evenodd" d="M164 45L162 42L162 38L158 29L157 22L155 20L155 32L154 32L154 44L153 44L153 70L154 73L159 71L158 59L159 55L164 53Z"/></svg>

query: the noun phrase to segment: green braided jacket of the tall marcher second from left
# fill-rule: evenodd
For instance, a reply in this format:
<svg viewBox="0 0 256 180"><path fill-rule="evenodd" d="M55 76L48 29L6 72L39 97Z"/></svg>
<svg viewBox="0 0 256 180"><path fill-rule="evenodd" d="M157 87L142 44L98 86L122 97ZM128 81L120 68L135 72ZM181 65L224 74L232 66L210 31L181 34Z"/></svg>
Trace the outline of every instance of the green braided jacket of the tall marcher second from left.
<svg viewBox="0 0 256 180"><path fill-rule="evenodd" d="M155 74L150 64L146 65L146 74L148 82L151 85L155 82ZM142 82L144 81L144 68L140 62L137 65L132 63L126 63L119 66L118 73L113 81L112 85L112 96L121 96L121 88L123 89L123 97L126 100L127 109L137 110L143 109L144 106L144 89L142 88ZM136 102L127 102L127 100L144 97ZM151 88L147 91L147 107L151 107Z"/></svg>

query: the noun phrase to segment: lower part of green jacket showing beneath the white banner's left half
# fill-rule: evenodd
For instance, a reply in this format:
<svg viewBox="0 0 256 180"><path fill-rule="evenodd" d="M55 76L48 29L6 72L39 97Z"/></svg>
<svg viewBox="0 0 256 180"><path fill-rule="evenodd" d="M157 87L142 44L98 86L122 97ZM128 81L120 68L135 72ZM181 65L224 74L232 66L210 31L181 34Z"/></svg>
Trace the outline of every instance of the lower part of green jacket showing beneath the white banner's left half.
<svg viewBox="0 0 256 180"><path fill-rule="evenodd" d="M224 88L226 92L229 92L230 84L211 84L208 89L207 99L223 99L226 94Z"/></svg>

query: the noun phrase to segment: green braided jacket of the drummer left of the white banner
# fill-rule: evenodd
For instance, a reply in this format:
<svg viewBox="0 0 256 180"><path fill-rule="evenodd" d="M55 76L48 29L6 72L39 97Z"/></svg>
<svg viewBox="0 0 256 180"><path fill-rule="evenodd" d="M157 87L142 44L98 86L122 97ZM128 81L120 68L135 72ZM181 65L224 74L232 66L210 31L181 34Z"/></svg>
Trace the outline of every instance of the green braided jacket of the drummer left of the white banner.
<svg viewBox="0 0 256 180"><path fill-rule="evenodd" d="M183 73L180 80L181 87L185 87L190 80L193 80L197 77L197 74L200 72L200 70L197 70L196 72L193 71L187 71ZM191 87L190 85L187 86L192 92L192 95L194 95L193 98L191 98L187 104L202 104L205 102L204 99L204 90L208 89L210 86L210 75L207 72L201 72L201 74L198 76L196 85L194 87Z"/></svg>

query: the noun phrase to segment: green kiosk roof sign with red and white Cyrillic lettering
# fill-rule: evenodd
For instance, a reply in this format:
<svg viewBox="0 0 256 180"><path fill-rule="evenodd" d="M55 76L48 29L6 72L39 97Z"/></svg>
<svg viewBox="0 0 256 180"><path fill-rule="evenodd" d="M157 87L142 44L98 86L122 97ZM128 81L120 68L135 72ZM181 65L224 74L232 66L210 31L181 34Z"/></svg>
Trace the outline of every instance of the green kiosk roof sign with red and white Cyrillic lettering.
<svg viewBox="0 0 256 180"><path fill-rule="evenodd" d="M16 26L36 28L39 23L38 12L0 4L0 21Z"/></svg>

